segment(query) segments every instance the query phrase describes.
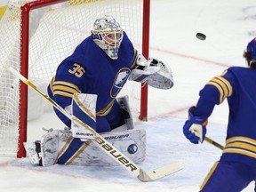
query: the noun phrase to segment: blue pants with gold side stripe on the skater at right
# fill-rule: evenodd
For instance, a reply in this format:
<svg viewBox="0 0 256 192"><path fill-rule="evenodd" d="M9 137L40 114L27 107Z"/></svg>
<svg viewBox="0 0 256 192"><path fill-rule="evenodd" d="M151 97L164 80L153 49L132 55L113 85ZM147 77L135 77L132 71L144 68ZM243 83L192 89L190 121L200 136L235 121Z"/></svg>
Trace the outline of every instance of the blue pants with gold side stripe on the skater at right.
<svg viewBox="0 0 256 192"><path fill-rule="evenodd" d="M256 167L236 162L216 162L200 191L240 192L253 180L256 181Z"/></svg>

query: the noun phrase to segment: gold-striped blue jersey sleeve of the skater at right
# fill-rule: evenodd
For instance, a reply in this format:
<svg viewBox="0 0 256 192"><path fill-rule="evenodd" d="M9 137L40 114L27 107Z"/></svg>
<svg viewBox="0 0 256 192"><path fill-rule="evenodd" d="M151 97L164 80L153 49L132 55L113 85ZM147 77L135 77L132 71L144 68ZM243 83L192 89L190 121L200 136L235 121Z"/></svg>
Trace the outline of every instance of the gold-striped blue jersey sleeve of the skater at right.
<svg viewBox="0 0 256 192"><path fill-rule="evenodd" d="M215 105L219 105L234 93L235 77L225 70L221 76L214 76L199 92L199 100L196 104L195 116L208 118L212 114Z"/></svg>

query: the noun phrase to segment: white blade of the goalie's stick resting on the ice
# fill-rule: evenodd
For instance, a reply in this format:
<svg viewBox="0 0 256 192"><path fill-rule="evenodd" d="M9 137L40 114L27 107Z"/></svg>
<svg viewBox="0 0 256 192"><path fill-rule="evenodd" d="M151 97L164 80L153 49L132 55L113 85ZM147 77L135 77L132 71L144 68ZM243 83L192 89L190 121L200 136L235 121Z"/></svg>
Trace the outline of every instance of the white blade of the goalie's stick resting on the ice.
<svg viewBox="0 0 256 192"><path fill-rule="evenodd" d="M164 166L152 171L143 172L140 170L138 178L143 182L159 180L173 174L174 172L179 172L181 169L183 169L183 165L180 162L173 162L171 164L165 164Z"/></svg>

